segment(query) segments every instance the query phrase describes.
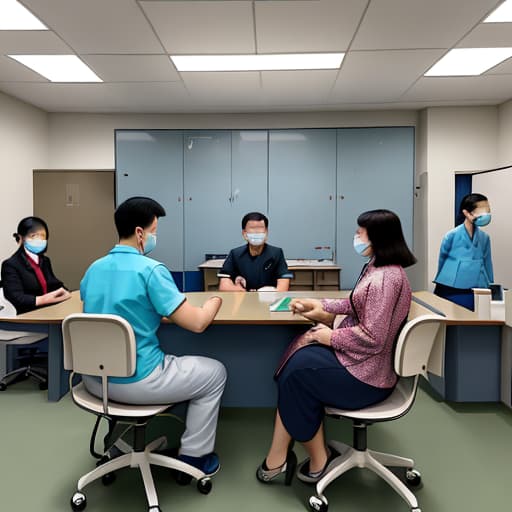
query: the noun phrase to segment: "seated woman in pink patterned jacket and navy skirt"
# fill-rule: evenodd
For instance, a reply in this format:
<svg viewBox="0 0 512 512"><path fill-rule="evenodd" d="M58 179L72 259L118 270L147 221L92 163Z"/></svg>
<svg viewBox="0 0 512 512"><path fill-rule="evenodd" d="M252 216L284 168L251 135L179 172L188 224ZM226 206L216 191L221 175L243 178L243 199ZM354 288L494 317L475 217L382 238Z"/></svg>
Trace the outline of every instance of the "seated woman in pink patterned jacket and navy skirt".
<svg viewBox="0 0 512 512"><path fill-rule="evenodd" d="M360 409L387 398L396 384L393 351L411 304L404 268L416 258L393 212L368 211L357 224L354 249L369 261L350 297L291 302L295 313L318 324L295 340L276 377L278 407L272 444L256 473L261 482L285 474L290 484L297 465L292 440L309 454L297 477L320 480L339 455L325 444L324 407ZM346 316L333 326L336 315Z"/></svg>

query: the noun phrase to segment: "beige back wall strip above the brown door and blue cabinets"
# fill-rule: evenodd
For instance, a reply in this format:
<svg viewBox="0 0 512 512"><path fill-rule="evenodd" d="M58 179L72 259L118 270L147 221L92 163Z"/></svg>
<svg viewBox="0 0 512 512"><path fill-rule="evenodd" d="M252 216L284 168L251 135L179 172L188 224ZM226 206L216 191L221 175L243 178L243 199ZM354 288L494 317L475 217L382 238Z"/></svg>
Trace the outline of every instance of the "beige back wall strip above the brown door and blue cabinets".
<svg viewBox="0 0 512 512"><path fill-rule="evenodd" d="M114 130L414 126L414 111L282 114L49 114L49 169L113 169Z"/></svg>

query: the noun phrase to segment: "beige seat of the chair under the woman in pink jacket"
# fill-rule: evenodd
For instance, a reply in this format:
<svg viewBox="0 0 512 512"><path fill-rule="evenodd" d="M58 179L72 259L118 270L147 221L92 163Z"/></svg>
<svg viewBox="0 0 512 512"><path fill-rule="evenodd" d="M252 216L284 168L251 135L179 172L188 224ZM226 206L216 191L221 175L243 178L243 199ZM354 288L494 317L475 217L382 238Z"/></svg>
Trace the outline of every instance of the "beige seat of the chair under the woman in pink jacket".
<svg viewBox="0 0 512 512"><path fill-rule="evenodd" d="M416 379L401 378L393 393L383 400L364 409L346 410L326 407L325 413L328 416L341 416L355 420L386 421L405 414L412 405L416 393Z"/></svg>

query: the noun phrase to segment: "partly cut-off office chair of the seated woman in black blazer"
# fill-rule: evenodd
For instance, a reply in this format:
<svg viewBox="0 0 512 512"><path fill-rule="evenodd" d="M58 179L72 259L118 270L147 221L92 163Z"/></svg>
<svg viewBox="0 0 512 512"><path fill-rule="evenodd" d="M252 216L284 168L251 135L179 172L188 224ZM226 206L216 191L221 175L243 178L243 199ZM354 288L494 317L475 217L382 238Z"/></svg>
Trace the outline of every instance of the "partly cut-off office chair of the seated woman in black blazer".
<svg viewBox="0 0 512 512"><path fill-rule="evenodd" d="M16 316L16 308L4 297L3 288L0 286L0 321L2 318ZM13 331L0 329L0 391L5 391L7 386L14 384L18 380L32 377L39 383L39 389L48 389L48 374L44 368L32 366L34 355L29 354L25 366L16 368L6 373L6 349L7 347L23 347L38 343L48 337L44 332ZM32 364L31 364L32 363Z"/></svg>

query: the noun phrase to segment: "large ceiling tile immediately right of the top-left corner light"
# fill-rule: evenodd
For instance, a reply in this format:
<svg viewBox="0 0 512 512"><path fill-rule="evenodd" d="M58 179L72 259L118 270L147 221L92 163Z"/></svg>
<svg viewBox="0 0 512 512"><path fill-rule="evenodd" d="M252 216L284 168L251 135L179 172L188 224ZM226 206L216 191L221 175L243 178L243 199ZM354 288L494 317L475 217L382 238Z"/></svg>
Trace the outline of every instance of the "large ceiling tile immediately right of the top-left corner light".
<svg viewBox="0 0 512 512"><path fill-rule="evenodd" d="M163 53L144 14L127 0L24 0L78 53Z"/></svg>

